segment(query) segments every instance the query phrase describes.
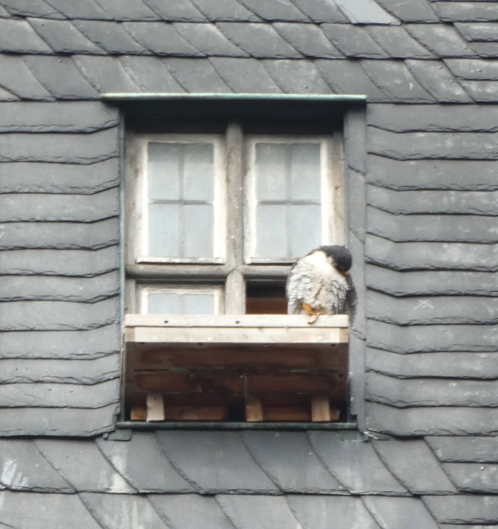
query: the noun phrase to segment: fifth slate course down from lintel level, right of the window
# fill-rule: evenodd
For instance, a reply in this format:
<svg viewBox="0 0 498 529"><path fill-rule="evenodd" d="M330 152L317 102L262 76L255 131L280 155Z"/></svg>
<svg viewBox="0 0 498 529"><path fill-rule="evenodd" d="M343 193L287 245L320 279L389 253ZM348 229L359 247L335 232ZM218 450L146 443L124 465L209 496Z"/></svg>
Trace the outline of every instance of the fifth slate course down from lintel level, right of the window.
<svg viewBox="0 0 498 529"><path fill-rule="evenodd" d="M414 222L411 215L393 216L368 207L366 223L368 233L395 242L498 242L494 216L420 215Z"/></svg>

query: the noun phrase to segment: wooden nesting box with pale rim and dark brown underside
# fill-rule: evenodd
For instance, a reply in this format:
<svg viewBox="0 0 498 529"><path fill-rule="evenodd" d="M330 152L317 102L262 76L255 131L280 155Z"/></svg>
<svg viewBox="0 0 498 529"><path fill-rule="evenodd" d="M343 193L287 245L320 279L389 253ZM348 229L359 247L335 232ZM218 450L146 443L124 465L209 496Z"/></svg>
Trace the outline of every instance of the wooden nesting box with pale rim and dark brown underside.
<svg viewBox="0 0 498 529"><path fill-rule="evenodd" d="M338 421L348 318L125 318L126 403L139 421Z"/></svg>

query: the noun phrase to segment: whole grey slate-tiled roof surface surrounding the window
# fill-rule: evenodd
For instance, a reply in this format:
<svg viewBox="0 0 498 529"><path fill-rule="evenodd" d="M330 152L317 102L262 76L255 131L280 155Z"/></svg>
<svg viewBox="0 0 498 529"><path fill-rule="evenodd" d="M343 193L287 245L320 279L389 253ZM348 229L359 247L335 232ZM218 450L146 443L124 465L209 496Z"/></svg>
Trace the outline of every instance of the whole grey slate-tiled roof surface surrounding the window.
<svg viewBox="0 0 498 529"><path fill-rule="evenodd" d="M498 527L497 24L486 1L0 0L0 525ZM100 435L121 348L103 92L366 94L345 170L368 441Z"/></svg>

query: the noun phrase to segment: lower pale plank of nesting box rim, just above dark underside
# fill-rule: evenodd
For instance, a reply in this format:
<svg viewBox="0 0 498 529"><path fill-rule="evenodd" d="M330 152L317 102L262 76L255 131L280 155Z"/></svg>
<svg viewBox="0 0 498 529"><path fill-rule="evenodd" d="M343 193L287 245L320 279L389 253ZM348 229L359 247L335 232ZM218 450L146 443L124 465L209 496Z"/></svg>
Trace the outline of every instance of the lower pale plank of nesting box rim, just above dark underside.
<svg viewBox="0 0 498 529"><path fill-rule="evenodd" d="M143 343L347 343L343 328L135 327L135 342ZM126 340L126 336L125 336Z"/></svg>

